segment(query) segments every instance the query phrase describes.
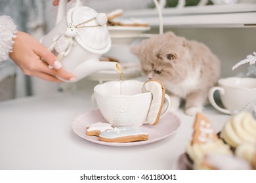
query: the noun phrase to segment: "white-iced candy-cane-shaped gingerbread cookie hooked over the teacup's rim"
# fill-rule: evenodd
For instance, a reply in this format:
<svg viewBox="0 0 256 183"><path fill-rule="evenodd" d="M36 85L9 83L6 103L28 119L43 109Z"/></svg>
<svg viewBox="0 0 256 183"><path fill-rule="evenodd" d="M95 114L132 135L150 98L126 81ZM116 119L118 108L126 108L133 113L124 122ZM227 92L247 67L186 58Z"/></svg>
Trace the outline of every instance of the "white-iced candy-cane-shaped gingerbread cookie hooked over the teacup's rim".
<svg viewBox="0 0 256 183"><path fill-rule="evenodd" d="M158 80L148 80L143 84L142 92L150 92L153 95L147 122L150 125L157 125L165 99L165 88Z"/></svg>

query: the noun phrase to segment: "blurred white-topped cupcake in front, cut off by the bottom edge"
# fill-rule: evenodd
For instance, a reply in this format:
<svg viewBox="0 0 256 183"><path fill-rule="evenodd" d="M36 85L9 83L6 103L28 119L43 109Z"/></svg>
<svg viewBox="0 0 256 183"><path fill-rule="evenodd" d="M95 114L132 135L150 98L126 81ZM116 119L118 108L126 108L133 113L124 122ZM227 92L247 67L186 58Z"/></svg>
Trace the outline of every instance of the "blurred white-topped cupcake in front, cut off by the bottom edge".
<svg viewBox="0 0 256 183"><path fill-rule="evenodd" d="M232 154L206 154L194 163L195 170L251 170L251 165Z"/></svg>

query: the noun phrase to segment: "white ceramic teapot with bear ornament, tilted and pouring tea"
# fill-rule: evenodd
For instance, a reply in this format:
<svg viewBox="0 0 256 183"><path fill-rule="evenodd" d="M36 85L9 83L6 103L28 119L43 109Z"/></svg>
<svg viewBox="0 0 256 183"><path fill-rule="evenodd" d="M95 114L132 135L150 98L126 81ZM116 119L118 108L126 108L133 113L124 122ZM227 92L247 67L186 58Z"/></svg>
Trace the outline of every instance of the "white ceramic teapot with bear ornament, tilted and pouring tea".
<svg viewBox="0 0 256 183"><path fill-rule="evenodd" d="M56 26L43 37L42 44L60 59L63 69L72 73L75 81L101 70L121 73L119 63L99 61L111 47L106 14L83 7L77 0L65 16L66 4L66 0L60 0Z"/></svg>

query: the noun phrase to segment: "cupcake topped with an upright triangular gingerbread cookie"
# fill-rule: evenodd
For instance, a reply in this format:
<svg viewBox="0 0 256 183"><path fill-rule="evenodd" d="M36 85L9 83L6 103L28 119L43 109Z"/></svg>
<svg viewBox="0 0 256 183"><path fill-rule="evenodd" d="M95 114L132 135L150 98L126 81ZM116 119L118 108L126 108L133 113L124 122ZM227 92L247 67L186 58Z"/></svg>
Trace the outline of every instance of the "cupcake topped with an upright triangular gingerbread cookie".
<svg viewBox="0 0 256 183"><path fill-rule="evenodd" d="M186 147L184 163L193 169L194 162L204 158L206 154L231 155L232 152L230 147L219 139L209 120L198 113L194 122L192 141Z"/></svg>

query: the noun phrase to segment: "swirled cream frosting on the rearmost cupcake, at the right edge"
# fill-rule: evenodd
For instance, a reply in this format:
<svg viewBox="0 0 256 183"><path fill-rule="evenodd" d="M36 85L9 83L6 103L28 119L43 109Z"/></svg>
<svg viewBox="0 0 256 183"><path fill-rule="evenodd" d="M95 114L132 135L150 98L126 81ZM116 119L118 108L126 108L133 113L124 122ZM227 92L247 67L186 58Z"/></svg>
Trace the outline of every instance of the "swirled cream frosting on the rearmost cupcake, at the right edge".
<svg viewBox="0 0 256 183"><path fill-rule="evenodd" d="M249 112L240 112L226 122L220 135L226 143L236 148L244 143L256 143L256 121Z"/></svg>

